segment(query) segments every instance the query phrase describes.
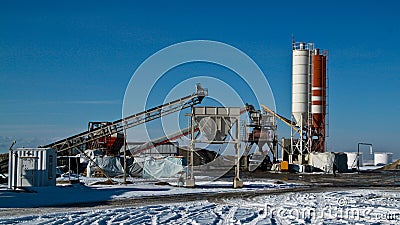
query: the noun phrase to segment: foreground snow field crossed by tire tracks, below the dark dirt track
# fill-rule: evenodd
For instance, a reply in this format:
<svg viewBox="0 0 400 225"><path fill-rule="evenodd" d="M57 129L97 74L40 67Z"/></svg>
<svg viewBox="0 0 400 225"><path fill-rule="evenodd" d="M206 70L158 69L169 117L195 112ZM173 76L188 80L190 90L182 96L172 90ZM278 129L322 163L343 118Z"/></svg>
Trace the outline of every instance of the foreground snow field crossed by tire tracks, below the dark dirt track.
<svg viewBox="0 0 400 225"><path fill-rule="evenodd" d="M0 218L0 224L399 224L400 193L286 193Z"/></svg>

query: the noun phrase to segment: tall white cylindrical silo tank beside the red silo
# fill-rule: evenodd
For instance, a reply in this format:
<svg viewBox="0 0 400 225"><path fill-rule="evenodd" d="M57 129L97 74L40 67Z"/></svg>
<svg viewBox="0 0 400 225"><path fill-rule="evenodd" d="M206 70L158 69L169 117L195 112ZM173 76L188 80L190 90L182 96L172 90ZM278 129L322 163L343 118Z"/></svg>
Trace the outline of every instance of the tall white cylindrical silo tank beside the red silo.
<svg viewBox="0 0 400 225"><path fill-rule="evenodd" d="M298 125L307 122L310 54L305 43L293 46L292 114Z"/></svg>

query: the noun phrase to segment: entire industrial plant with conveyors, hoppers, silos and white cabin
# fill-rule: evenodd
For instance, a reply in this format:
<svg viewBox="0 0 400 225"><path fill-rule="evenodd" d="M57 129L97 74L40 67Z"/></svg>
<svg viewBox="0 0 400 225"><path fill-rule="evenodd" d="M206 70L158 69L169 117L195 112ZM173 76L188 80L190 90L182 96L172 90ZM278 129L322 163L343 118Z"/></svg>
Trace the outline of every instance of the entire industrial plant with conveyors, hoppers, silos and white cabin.
<svg viewBox="0 0 400 225"><path fill-rule="evenodd" d="M292 41L290 119L268 106L262 105L261 111L250 103L232 107L198 106L208 95L208 89L197 84L196 92L186 97L117 121L89 122L87 131L40 148L13 150L11 147L9 187L55 185L57 163L68 164L69 171L71 167L76 168L77 174L85 171L88 176L100 174L110 178L142 173L146 173L144 177L151 174L157 174L157 178L175 176L184 178L187 187L195 186L196 170L217 171L218 167L229 167L218 176L233 170L235 188L243 185L240 171L255 171L261 167L274 172L313 172L319 169L326 173L359 168L362 166L362 153L333 153L327 148L327 60L327 50L316 48L313 43ZM127 143L127 129L185 108L191 108L189 127L148 142ZM248 117L242 121L244 114ZM290 127L290 137L279 141L277 120ZM177 140L184 136L190 137L190 145L179 146ZM199 136L203 139L198 139ZM221 157L219 152L210 153L208 149L196 147L199 143L231 144L234 156L225 156L225 161L218 161L216 159ZM75 160L71 164L70 157L76 155L85 160ZM390 153L375 152L374 156L374 165L392 161ZM5 163L3 160L0 164L5 167ZM194 169L195 166L199 168ZM128 168L130 172L127 172ZM154 168L157 168L156 172L152 171Z"/></svg>

